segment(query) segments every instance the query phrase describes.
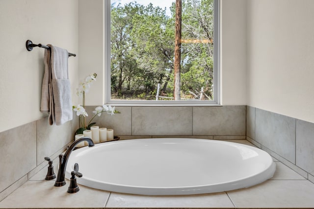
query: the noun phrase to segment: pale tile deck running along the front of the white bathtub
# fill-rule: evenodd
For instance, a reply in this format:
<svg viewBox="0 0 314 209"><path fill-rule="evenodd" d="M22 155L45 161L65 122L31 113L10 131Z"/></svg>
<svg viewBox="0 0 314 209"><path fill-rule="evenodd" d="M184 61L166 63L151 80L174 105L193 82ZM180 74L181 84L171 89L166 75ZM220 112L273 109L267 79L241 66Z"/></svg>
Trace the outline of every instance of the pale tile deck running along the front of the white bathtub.
<svg viewBox="0 0 314 209"><path fill-rule="evenodd" d="M232 141L254 146L247 140ZM314 208L314 184L274 161L274 177L260 185L189 196L131 195L86 186L79 186L76 194L68 194L67 186L54 187L54 181L44 180L44 168L1 201L0 208ZM56 167L57 160L55 172Z"/></svg>

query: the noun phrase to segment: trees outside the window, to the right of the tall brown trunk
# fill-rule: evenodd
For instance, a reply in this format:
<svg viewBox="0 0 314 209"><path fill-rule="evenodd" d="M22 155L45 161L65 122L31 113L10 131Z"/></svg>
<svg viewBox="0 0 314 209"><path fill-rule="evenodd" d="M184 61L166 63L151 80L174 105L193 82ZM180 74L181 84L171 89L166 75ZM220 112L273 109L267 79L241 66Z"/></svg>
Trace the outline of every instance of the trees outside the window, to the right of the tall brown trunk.
<svg viewBox="0 0 314 209"><path fill-rule="evenodd" d="M183 91L201 91L212 97L213 0L184 0L182 36L193 40L182 44Z"/></svg>

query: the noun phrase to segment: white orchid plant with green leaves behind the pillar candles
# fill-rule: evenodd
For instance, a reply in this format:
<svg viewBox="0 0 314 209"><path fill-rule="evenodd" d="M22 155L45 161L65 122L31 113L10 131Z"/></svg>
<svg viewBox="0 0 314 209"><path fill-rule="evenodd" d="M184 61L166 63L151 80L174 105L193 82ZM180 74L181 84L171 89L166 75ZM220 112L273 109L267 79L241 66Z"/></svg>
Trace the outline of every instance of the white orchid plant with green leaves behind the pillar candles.
<svg viewBox="0 0 314 209"><path fill-rule="evenodd" d="M90 127L96 124L95 122L92 122L93 119L96 116L101 116L102 113L107 113L110 115L114 115L115 113L120 113L119 111L115 110L115 107L111 107L110 105L107 106L104 104L103 106L98 106L95 108L95 110L93 111L95 116L93 116L89 120L89 122L86 123L86 117L88 116L88 114L85 110L85 94L88 93L92 83L96 81L96 77L97 77L96 73L90 74L85 78L84 82L81 82L78 85L77 95L79 97L81 96L83 97L83 105L81 106L80 104L78 104L77 106L73 106L73 111L77 112L78 123L79 123L79 128L75 132L75 134L82 134L83 131L90 130Z"/></svg>

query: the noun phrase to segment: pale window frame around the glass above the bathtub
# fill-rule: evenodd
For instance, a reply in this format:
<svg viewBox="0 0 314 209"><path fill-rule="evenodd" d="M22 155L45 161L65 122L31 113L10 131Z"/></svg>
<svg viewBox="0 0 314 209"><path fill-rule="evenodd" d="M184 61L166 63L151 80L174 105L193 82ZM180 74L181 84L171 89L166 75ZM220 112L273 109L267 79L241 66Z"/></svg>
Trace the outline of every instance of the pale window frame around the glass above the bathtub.
<svg viewBox="0 0 314 209"><path fill-rule="evenodd" d="M104 0L104 63L105 63L105 103L117 106L220 106L220 0L214 0L214 69L213 69L213 95L214 100L111 100L111 76L110 76L110 36L111 36L111 2Z"/></svg>

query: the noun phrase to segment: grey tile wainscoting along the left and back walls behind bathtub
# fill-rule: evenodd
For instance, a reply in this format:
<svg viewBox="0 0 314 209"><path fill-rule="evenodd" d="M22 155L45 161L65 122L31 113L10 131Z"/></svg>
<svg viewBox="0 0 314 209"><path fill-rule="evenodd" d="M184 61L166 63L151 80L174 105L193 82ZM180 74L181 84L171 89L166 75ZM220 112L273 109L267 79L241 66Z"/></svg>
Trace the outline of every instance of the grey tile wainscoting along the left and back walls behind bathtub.
<svg viewBox="0 0 314 209"><path fill-rule="evenodd" d="M86 107L89 117L96 106ZM121 139L245 139L246 106L116 107L121 114L96 116L100 127L114 129ZM74 139L78 116L61 126L48 117L0 133L0 201L56 158Z"/></svg>

